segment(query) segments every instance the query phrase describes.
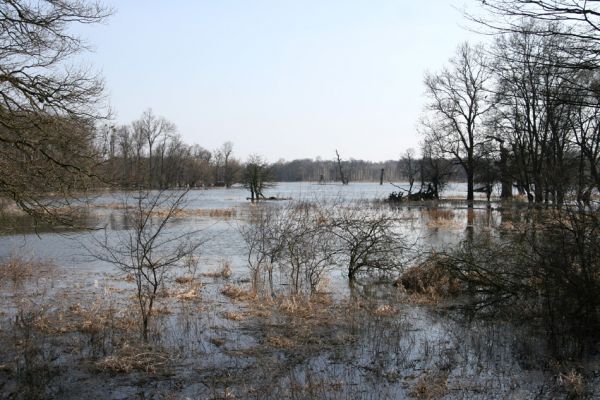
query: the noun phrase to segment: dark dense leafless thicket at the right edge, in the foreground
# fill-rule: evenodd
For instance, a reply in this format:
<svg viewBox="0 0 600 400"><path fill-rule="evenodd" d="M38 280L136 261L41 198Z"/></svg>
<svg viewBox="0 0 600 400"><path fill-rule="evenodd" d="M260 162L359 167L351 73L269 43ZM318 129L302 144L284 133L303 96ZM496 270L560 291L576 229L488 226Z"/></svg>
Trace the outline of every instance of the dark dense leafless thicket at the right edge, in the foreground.
<svg viewBox="0 0 600 400"><path fill-rule="evenodd" d="M557 356L569 357L598 338L599 233L595 211L532 211L518 228L470 236L438 262L473 310L539 319Z"/></svg>

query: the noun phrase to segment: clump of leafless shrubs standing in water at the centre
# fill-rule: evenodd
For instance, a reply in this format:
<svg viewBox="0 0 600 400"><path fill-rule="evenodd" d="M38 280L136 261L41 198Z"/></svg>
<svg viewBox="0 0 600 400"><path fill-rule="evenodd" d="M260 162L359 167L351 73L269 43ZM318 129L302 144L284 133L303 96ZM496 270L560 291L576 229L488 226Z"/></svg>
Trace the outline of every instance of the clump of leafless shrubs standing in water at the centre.
<svg viewBox="0 0 600 400"><path fill-rule="evenodd" d="M362 272L397 272L408 248L397 220L369 204L297 202L263 207L240 227L248 250L253 286L266 275L274 294L279 269L293 294L314 294L326 272L347 269L350 281Z"/></svg>

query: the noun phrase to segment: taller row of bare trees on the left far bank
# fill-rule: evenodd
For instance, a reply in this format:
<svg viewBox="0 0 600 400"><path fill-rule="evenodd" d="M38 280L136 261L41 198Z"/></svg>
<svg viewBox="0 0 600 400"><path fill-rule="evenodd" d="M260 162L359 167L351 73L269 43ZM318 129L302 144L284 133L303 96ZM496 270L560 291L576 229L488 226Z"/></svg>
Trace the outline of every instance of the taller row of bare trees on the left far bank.
<svg viewBox="0 0 600 400"><path fill-rule="evenodd" d="M151 109L128 125L104 126L97 135L105 180L120 187L226 186L240 182L242 163L225 142L213 151L184 143L175 124Z"/></svg>

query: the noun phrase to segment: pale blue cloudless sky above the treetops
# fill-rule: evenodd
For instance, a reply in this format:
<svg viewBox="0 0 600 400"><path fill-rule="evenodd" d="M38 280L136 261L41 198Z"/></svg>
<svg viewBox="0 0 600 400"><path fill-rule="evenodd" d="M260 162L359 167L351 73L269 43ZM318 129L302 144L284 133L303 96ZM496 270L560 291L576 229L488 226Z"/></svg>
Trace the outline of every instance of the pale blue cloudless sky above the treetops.
<svg viewBox="0 0 600 400"><path fill-rule="evenodd" d="M186 142L230 140L242 159L397 159L418 147L425 71L479 40L463 1L105 3L115 15L82 34L116 122L152 107Z"/></svg>

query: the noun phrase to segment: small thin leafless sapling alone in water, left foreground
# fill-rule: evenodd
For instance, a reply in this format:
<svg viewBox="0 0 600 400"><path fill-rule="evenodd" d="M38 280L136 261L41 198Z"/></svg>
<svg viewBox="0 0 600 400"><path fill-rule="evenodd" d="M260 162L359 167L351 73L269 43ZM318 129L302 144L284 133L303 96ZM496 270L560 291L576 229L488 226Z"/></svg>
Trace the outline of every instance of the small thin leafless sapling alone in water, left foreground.
<svg viewBox="0 0 600 400"><path fill-rule="evenodd" d="M150 319L158 291L176 267L195 263L203 241L197 232L170 232L167 227L183 207L187 191L140 191L126 203L131 229L105 233L95 238L95 248L89 249L97 259L113 264L133 276L139 305L142 338L148 341Z"/></svg>

